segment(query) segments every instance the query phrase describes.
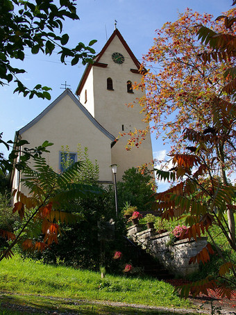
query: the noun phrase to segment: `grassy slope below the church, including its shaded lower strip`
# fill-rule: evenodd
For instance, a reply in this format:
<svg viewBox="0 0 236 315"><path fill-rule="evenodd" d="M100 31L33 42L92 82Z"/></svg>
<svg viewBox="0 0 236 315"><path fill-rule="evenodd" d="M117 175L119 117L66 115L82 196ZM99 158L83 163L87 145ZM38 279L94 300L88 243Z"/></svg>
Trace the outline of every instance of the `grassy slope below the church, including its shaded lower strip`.
<svg viewBox="0 0 236 315"><path fill-rule="evenodd" d="M39 310L44 307L60 309L60 312L67 309L67 312L74 311L77 314L116 314L115 309L119 309L119 314L158 314L156 310L151 309L142 309L140 313L138 308L104 306L92 301L124 302L153 307L190 307L189 302L180 300L173 293L173 287L165 282L113 275L106 275L106 279L101 280L99 273L64 266L48 266L29 259L22 260L17 256L1 261L0 290L2 307L13 303L30 305ZM8 313L9 311L2 310L2 307L0 315L23 314Z"/></svg>

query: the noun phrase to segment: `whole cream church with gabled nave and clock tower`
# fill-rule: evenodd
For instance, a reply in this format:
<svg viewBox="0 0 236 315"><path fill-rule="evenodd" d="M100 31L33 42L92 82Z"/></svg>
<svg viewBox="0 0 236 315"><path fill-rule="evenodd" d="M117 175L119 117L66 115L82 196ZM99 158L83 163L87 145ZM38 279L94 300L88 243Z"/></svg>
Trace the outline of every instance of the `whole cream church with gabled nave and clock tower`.
<svg viewBox="0 0 236 315"><path fill-rule="evenodd" d="M76 95L71 90L52 102L40 115L16 132L19 139L28 140L29 147L53 143L47 153L47 163L62 170L62 146L69 147L69 156L77 161L78 143L87 147L89 158L99 164L99 181L112 183L111 164L117 164L117 180L124 171L153 160L151 136L146 135L139 148L126 150L130 136L120 134L146 129L140 106L127 106L143 96L133 90L142 74L140 62L128 47L118 29L110 36L94 63L87 65ZM20 188L20 176L12 174L12 188Z"/></svg>

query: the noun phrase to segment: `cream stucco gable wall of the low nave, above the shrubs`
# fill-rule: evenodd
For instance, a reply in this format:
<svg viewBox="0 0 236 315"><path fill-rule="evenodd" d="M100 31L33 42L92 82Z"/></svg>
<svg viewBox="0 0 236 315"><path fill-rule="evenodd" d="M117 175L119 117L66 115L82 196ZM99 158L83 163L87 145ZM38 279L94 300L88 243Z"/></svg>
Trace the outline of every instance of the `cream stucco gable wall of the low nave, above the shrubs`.
<svg viewBox="0 0 236 315"><path fill-rule="evenodd" d="M76 103L65 95L46 115L28 128L22 134L22 139L28 140L30 145L36 147L44 140L53 143L49 147L50 153L45 154L47 163L56 172L60 171L60 151L62 145L69 146L69 152L77 152L78 143L82 150L88 148L89 158L99 163L99 180L112 181L111 150L112 140L94 126ZM17 172L13 182L16 185Z"/></svg>

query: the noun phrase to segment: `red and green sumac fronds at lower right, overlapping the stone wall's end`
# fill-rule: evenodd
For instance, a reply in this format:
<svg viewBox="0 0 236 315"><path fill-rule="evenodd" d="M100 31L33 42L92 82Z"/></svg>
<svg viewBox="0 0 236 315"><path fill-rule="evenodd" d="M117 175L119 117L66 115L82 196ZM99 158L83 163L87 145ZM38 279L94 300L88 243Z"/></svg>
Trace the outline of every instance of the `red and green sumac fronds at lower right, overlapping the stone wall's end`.
<svg viewBox="0 0 236 315"><path fill-rule="evenodd" d="M196 146L198 148L196 153L173 154L174 168L169 173L174 174L173 177L178 179L178 184L169 188L168 191L156 195L158 200L157 207L164 210L162 218L167 220L171 218L185 218L185 224L189 225L187 230L189 239L193 237L197 241L197 237L208 233L216 248L214 239L212 239L211 227L217 225L231 249L235 251L235 239L232 237L230 230L230 221L227 222L224 216L229 208L233 209L234 207L235 187L224 185L212 175L212 170L208 167L208 163L212 165L210 152L213 150L215 142L212 143L209 138L208 141L204 141L203 134L201 140L203 142L198 143ZM158 177L164 178L162 172L157 170L157 173ZM208 175L208 177L203 177L203 175ZM182 234L180 238L183 237L185 235ZM217 249L217 252L221 255L219 249ZM189 264L195 261L202 261L205 264L205 262L210 260L210 255L213 253L212 247L208 244L199 254L189 260ZM219 278L225 280L226 284L224 287L228 290L222 291L222 294L223 296L230 296L229 286L232 281L228 279L227 273L230 270L235 275L235 266L234 264L226 265L226 259L222 258L224 265L229 267L228 270L224 269L224 273L219 274ZM196 283L198 290L199 285L202 285L203 291L205 291L208 284L209 287L213 285L213 280L210 277L204 281ZM214 278L215 289L217 288L217 283L219 284L218 287L221 286L221 282L217 282L217 278ZM185 290L187 290L184 293L185 296L187 296L187 292L190 289L190 286L185 286ZM195 294L197 294L198 290L196 290Z"/></svg>

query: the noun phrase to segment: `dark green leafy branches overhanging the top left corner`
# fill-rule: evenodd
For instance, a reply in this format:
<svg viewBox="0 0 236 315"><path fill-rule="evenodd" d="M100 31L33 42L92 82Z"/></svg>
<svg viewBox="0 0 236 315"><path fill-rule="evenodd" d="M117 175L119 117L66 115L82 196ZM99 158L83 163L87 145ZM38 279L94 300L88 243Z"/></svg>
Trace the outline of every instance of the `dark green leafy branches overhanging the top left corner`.
<svg viewBox="0 0 236 315"><path fill-rule="evenodd" d="M62 63L70 58L71 65L76 65L79 60L83 64L91 63L95 54L91 46L96 40L90 41L88 46L79 42L73 49L65 46L69 35L62 34L62 22L65 18L79 19L76 1L60 0L59 7L54 2L2 0L0 3L0 84L3 86L14 80L17 84L15 92L22 92L30 99L34 95L51 99L48 92L51 88L40 84L33 89L24 86L17 74L26 70L12 67L12 58L23 61L26 49L31 49L32 54L51 55L57 48Z"/></svg>

